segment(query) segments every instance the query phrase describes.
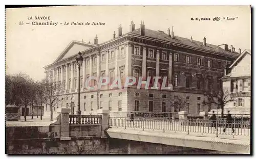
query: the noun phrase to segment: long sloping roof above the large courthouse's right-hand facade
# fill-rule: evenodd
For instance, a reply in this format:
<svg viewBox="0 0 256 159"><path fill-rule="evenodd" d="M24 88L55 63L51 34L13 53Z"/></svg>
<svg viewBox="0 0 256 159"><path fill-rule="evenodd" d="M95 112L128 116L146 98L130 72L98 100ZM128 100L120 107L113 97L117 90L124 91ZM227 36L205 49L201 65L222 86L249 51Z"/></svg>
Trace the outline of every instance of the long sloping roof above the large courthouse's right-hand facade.
<svg viewBox="0 0 256 159"><path fill-rule="evenodd" d="M139 29L136 29L130 33L140 35ZM231 56L239 55L238 52L230 52L228 50L224 50L223 48L219 47L218 45L206 43L206 46L205 46L205 45L203 45L203 42L196 41L196 40L193 40L191 42L190 39L182 38L182 37L178 37L178 36L174 36L174 38L172 38L172 37L168 36L168 34L165 34L164 32L161 32L161 31L145 29L144 36L159 39L159 40L169 41L169 42L173 42L173 43L177 43L177 44L187 45L190 47L196 47L196 48L204 49L204 50L208 50L208 51L216 51L216 52L220 52L221 54L226 54L226 55L231 55Z"/></svg>

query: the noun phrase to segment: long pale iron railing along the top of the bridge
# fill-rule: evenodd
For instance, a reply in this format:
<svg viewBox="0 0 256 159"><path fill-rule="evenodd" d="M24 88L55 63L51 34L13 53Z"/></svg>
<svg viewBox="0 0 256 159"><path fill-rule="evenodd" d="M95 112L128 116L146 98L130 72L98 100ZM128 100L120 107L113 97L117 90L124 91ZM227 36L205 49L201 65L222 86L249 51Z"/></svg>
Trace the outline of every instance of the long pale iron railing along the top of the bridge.
<svg viewBox="0 0 256 159"><path fill-rule="evenodd" d="M196 120L165 120L165 119L145 119L122 117L110 117L110 127L121 128L137 128L148 130L163 130L163 131L179 131L189 133L201 134L215 134L218 135L232 135L232 136L250 136L250 122L249 121L210 121L208 119ZM232 131L233 129L233 131Z"/></svg>

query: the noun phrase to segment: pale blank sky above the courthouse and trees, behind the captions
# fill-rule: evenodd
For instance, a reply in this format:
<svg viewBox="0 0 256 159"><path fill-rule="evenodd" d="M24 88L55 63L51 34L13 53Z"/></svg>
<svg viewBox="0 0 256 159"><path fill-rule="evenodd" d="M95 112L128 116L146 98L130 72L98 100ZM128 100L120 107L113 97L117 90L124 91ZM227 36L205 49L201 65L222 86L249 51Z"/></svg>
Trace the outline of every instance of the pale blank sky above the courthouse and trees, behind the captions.
<svg viewBox="0 0 256 159"><path fill-rule="evenodd" d="M251 49L251 12L249 6L62 6L16 8L6 10L6 73L25 72L34 80L45 77L44 66L53 63L72 40L91 42L97 34L99 43L112 39L121 24L123 34L130 22L139 28L160 30L174 26L174 35L220 45ZM35 20L50 16L50 20ZM31 20L30 17L33 19ZM191 20L191 18L211 20ZM219 21L212 18L220 17ZM234 17L234 20L226 20ZM224 19L225 18L225 19ZM58 22L32 25L31 22ZM105 25L63 25L69 22L104 22ZM23 25L19 25L23 22ZM30 24L26 24L30 23ZM59 24L59 23L62 23Z"/></svg>

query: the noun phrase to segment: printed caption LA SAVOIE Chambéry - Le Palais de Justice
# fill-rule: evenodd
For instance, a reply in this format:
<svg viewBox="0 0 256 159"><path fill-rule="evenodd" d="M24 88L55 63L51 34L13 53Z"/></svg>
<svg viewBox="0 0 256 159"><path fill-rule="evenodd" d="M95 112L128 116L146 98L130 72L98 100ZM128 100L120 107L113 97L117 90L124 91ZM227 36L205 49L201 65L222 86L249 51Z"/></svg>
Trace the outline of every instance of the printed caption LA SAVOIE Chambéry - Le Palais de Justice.
<svg viewBox="0 0 256 159"><path fill-rule="evenodd" d="M83 22L83 21L63 21L63 22L55 22L51 21L50 16L28 16L28 20L32 20L32 25L105 25L105 22Z"/></svg>

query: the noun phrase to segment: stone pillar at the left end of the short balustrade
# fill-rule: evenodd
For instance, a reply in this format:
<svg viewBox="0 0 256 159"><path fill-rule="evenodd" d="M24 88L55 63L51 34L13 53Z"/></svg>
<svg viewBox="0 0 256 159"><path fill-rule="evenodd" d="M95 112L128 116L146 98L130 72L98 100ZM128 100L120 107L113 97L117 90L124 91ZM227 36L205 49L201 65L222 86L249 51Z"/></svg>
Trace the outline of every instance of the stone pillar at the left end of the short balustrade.
<svg viewBox="0 0 256 159"><path fill-rule="evenodd" d="M60 140L71 140L69 136L69 108L58 108L57 113L60 114Z"/></svg>

